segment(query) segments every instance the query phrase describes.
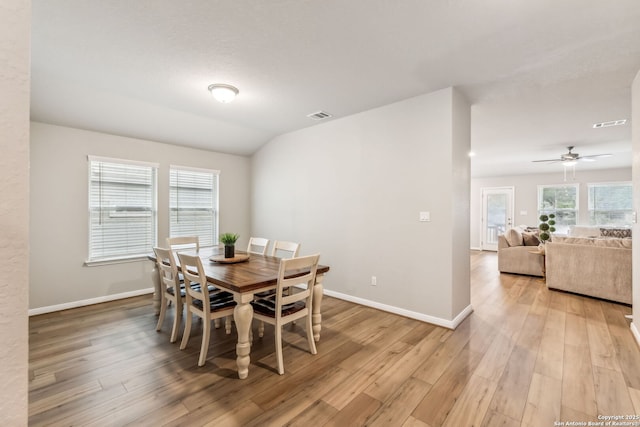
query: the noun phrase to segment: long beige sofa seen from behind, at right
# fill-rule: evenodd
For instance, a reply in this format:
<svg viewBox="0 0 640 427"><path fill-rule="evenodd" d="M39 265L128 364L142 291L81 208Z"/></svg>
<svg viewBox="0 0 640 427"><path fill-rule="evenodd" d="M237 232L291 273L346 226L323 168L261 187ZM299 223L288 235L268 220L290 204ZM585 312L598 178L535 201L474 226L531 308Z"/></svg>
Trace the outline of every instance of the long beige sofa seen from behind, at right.
<svg viewBox="0 0 640 427"><path fill-rule="evenodd" d="M610 230L553 236L545 245L547 287L631 304L631 238Z"/></svg>

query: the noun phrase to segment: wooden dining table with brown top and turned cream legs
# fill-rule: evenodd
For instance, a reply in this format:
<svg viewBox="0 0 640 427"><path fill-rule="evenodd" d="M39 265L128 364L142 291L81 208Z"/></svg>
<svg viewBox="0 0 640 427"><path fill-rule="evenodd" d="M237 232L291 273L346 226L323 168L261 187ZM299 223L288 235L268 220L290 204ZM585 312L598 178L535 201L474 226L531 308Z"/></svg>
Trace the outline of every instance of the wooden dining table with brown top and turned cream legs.
<svg viewBox="0 0 640 427"><path fill-rule="evenodd" d="M253 321L253 307L251 302L254 295L259 292L276 288L278 282L278 270L280 268L280 258L268 255L259 255L236 251L233 258L224 258L224 248L214 246L211 248L200 248L178 250L177 252L197 255L202 260L207 281L217 288L233 294L236 306L233 310L233 320L236 324L238 342L236 344L236 363L238 366L238 377L245 379L249 375L249 364L251 362L251 324ZM154 282L153 305L156 315L160 313L160 275L155 263L155 256L150 255L149 259L154 261L152 280ZM178 269L180 262L175 256ZM311 319L313 325L313 339L320 340L320 330L322 329L322 295L323 280L329 271L329 266L318 265L316 281L313 286L313 298ZM295 277L296 274L303 275L306 271L293 272L287 277Z"/></svg>

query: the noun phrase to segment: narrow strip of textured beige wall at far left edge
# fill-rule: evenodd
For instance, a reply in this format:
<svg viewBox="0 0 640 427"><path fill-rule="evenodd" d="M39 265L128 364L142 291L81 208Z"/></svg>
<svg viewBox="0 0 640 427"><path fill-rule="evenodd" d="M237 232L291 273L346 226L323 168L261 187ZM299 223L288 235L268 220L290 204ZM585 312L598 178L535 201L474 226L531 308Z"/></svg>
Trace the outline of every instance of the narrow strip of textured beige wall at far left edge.
<svg viewBox="0 0 640 427"><path fill-rule="evenodd" d="M28 421L31 4L0 2L0 418Z"/></svg>

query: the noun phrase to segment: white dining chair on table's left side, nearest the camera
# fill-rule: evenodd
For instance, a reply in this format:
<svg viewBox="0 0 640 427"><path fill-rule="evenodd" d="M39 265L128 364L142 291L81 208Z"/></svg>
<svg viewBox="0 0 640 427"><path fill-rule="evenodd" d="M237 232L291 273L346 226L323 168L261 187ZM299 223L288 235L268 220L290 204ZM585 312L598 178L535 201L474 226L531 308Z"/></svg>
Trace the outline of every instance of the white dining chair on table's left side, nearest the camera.
<svg viewBox="0 0 640 427"><path fill-rule="evenodd" d="M182 334L182 342L180 350L184 350L189 342L191 334L191 323L193 315L202 319L202 345L200 347L200 357L198 366L203 366L207 359L207 351L209 350L209 340L211 338L211 321L225 318L225 331L231 333L231 316L236 302L233 295L229 292L217 290L208 292L207 277L202 268L202 261L198 256L192 256L184 253L178 253L180 259L180 267L184 275L186 298L185 306L187 307L187 318ZM205 291L202 291L203 285Z"/></svg>

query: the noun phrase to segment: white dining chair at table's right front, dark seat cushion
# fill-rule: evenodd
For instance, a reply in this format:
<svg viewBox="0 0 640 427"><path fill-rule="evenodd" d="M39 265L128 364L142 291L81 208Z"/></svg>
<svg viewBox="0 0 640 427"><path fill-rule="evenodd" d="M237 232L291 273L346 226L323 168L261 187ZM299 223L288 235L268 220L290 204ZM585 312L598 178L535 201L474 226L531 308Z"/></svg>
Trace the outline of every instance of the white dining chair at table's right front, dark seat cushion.
<svg viewBox="0 0 640 427"><path fill-rule="evenodd" d="M282 359L282 326L306 316L305 329L309 350L316 354L316 344L313 339L311 323L313 287L316 282L316 271L320 255L309 255L300 258L283 259L278 270L276 293L268 298L253 301L253 317L261 322L275 326L276 358L278 359L278 373L284 374ZM291 273L309 270L308 273L287 278ZM286 292L290 290L290 292ZM264 323L258 328L260 337L264 335Z"/></svg>

